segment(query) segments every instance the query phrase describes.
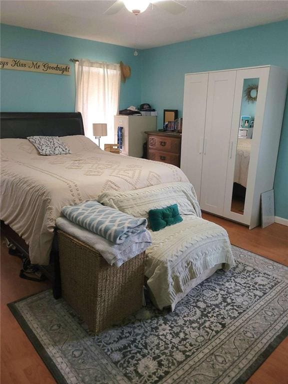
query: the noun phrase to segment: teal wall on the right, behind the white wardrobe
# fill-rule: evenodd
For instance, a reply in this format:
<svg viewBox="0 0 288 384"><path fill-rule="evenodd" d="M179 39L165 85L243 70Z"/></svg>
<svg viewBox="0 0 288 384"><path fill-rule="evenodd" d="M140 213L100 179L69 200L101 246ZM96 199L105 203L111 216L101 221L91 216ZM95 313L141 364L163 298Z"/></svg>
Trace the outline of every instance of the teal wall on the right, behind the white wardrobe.
<svg viewBox="0 0 288 384"><path fill-rule="evenodd" d="M184 73L263 64L288 68L288 20L142 51L142 102L182 115ZM288 219L288 99L274 180L275 215Z"/></svg>

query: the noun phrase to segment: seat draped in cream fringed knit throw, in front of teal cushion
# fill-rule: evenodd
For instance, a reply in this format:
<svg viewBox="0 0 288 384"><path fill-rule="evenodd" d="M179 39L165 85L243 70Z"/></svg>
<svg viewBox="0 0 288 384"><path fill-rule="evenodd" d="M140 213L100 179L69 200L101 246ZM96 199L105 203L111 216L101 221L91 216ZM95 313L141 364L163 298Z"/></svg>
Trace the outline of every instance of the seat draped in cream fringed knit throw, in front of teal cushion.
<svg viewBox="0 0 288 384"><path fill-rule="evenodd" d="M180 293L203 272L217 264L226 271L234 266L231 244L224 228L194 215L150 232L146 249L145 275L155 304L162 309L179 300Z"/></svg>

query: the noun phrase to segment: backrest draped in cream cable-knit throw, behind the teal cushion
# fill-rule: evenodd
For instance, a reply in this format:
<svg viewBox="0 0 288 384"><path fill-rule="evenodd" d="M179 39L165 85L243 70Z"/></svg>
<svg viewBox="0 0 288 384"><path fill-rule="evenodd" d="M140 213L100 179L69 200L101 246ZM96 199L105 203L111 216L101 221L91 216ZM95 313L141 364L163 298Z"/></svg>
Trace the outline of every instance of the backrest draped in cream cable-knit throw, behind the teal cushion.
<svg viewBox="0 0 288 384"><path fill-rule="evenodd" d="M97 200L135 217L148 218L150 209L177 204L180 214L201 217L201 210L192 184L168 182L126 191L109 190L101 193Z"/></svg>

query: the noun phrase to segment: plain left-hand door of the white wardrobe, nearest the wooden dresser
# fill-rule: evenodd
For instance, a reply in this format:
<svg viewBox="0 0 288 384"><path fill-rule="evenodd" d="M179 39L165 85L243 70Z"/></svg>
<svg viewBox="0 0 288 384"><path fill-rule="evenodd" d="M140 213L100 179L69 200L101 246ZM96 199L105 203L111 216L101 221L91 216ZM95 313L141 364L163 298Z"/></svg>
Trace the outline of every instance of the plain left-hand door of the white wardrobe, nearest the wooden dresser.
<svg viewBox="0 0 288 384"><path fill-rule="evenodd" d="M181 169L200 198L208 73L186 74L184 83Z"/></svg>

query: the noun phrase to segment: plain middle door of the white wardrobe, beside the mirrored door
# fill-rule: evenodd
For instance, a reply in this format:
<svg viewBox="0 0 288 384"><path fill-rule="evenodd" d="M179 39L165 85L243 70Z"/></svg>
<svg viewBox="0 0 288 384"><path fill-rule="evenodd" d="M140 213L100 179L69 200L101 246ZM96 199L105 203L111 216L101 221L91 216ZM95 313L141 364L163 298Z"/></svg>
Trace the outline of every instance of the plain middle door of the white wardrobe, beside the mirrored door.
<svg viewBox="0 0 288 384"><path fill-rule="evenodd" d="M211 72L200 191L201 209L223 214L236 70Z"/></svg>

